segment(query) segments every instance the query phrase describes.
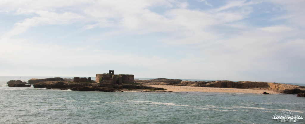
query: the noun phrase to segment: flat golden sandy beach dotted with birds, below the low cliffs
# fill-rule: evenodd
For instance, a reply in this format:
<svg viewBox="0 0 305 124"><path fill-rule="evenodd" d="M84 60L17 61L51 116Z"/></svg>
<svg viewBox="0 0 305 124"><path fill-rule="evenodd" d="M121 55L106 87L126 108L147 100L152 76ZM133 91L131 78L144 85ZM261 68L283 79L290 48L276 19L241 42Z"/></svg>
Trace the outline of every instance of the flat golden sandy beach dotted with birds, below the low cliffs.
<svg viewBox="0 0 305 124"><path fill-rule="evenodd" d="M262 94L264 91L270 94L278 94L271 90L252 90L252 89L237 89L237 88L207 88L207 87L190 87L190 86L172 86L172 85L146 85L156 88L165 88L165 91L173 92L227 92L227 93L254 93Z"/></svg>

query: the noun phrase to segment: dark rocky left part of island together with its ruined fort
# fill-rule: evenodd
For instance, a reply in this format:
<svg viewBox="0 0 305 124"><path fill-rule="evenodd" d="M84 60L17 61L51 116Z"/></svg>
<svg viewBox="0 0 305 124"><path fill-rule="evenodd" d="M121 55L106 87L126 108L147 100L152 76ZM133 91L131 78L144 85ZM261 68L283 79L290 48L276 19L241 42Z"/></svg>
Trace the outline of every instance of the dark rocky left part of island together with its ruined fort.
<svg viewBox="0 0 305 124"><path fill-rule="evenodd" d="M142 89L146 91L163 91L166 89L155 88L149 86L142 86L141 84L134 83L134 75L132 74L114 74L113 70L109 73L96 74L96 80L91 78L74 77L73 79L63 78L44 78L44 79L30 79L28 83L17 81L7 82L9 87L30 87L32 84L34 88L47 88L47 89L61 89L72 91L104 91L113 92L125 90Z"/></svg>

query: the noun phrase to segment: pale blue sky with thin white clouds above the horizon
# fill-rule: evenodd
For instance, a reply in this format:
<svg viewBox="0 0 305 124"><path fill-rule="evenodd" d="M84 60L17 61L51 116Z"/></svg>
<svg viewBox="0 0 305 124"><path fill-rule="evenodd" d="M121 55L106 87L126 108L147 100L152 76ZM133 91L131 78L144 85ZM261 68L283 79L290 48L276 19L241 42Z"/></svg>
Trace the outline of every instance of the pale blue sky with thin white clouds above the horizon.
<svg viewBox="0 0 305 124"><path fill-rule="evenodd" d="M305 83L304 0L1 0L0 76Z"/></svg>

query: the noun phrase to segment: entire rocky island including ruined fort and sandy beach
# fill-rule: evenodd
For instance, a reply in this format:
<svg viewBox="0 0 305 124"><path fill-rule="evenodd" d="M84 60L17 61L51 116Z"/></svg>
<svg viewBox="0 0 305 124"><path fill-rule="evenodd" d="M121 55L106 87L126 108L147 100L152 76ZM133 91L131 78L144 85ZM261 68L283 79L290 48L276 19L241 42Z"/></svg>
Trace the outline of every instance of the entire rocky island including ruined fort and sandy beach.
<svg viewBox="0 0 305 124"><path fill-rule="evenodd" d="M114 74L113 70L109 73L96 74L95 81L91 78L74 77L68 78L45 78L30 79L27 82L9 81L9 87L30 87L47 89L61 89L72 91L124 91L135 90L150 91L202 91L202 92L243 92L261 94L297 94L305 96L305 87L290 84L253 82L253 81L182 81L180 79L157 78L152 80L135 80L132 74ZM267 92L268 93L267 93Z"/></svg>

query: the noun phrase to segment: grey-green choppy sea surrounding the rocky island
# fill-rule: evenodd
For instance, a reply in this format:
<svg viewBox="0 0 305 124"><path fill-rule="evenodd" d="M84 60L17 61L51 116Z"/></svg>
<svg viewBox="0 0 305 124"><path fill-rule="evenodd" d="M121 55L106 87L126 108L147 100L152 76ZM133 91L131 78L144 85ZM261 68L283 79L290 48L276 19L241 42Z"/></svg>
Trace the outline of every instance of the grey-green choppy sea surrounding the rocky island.
<svg viewBox="0 0 305 124"><path fill-rule="evenodd" d="M290 123L305 123L300 119L305 98L296 95L71 91L6 84L31 78L50 77L0 77L0 123L287 123L275 118L285 113L299 117Z"/></svg>

